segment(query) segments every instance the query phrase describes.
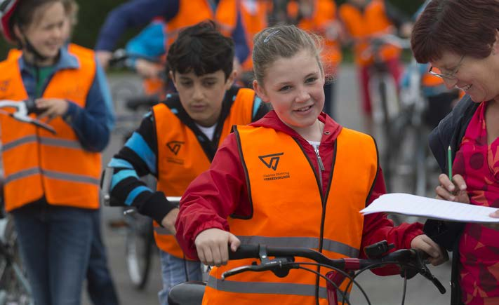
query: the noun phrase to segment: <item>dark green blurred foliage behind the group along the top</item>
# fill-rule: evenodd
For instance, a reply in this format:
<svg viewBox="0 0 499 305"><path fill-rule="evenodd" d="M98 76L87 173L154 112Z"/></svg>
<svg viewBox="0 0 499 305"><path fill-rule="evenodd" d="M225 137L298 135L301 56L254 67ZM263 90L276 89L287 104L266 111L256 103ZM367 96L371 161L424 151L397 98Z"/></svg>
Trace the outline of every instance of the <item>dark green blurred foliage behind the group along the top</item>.
<svg viewBox="0 0 499 305"><path fill-rule="evenodd" d="M166 0L164 0L166 1ZM333 1L333 0L331 0ZM342 4L346 0L338 0L336 3ZM408 15L412 15L418 7L423 4L423 0L388 0L394 6L399 8L401 11ZM95 45L95 40L97 39L100 26L104 22L107 13L112 10L112 8L125 3L124 0L79 0L79 23L74 29L72 41L79 43L82 46L88 48L93 48ZM140 29L133 29L128 31L119 41L119 46L123 46L124 43L131 38L134 34L138 33ZM8 48L13 48L14 46L8 45L3 39L0 40L0 58L3 59L6 56Z"/></svg>

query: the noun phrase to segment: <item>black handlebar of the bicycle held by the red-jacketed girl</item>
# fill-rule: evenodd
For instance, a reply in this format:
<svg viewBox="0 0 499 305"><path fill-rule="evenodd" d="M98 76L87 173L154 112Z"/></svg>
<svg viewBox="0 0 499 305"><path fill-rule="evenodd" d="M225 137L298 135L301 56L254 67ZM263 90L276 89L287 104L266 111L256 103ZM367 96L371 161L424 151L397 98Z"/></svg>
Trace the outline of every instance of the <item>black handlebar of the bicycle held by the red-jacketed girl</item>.
<svg viewBox="0 0 499 305"><path fill-rule="evenodd" d="M441 294L446 292L445 287L440 281L433 276L430 269L425 264L427 255L416 249L401 249L377 259L329 259L322 253L308 248L295 247L267 247L266 245L240 245L236 252L229 251L229 259L260 259L261 264L253 264L249 266L240 266L222 274L222 279L234 276L234 274L245 271L266 271L266 270L283 270L297 269L299 262L295 262L294 257L302 257L312 259L314 262L331 266L335 269L344 271L354 271L366 269L371 266L379 266L380 264L404 264L411 269L417 271L422 276L430 280L439 290ZM268 257L276 257L268 259ZM287 274L287 273L286 273Z"/></svg>

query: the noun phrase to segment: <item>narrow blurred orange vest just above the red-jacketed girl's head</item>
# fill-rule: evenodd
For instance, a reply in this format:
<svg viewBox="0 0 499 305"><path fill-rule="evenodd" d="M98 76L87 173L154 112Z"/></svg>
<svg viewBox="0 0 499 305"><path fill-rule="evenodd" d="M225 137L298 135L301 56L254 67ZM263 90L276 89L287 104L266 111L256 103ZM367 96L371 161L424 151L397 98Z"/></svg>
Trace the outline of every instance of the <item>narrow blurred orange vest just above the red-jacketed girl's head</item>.
<svg viewBox="0 0 499 305"><path fill-rule="evenodd" d="M253 50L253 37L262 29L268 26L267 13L269 3L266 0L241 1L241 20L246 30L246 43L248 48ZM246 72L253 72L253 58L251 54L243 62L243 69Z"/></svg>

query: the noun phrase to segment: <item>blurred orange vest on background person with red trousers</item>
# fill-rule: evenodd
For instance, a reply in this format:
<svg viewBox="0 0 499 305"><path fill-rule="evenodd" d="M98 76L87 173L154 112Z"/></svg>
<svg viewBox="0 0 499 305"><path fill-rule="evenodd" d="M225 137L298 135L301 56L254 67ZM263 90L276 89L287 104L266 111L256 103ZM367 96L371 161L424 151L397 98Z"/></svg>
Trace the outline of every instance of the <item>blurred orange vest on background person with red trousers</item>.
<svg viewBox="0 0 499 305"><path fill-rule="evenodd" d="M340 18L350 35L357 39L354 46L355 61L358 65L366 66L373 63L373 56L367 56L365 50L369 47L366 39L390 31L393 26L385 13L385 4L382 0L372 0L364 9L364 13L352 4L340 6ZM390 60L400 55L401 50L396 46L383 46L381 57Z"/></svg>

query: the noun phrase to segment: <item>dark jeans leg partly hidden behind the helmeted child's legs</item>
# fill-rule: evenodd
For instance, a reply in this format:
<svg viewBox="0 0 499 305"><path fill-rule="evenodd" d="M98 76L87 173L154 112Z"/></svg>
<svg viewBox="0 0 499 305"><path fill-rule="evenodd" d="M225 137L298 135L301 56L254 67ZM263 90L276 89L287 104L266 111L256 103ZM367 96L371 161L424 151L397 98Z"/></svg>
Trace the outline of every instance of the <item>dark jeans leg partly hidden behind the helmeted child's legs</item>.
<svg viewBox="0 0 499 305"><path fill-rule="evenodd" d="M111 273L107 268L107 257L100 232L100 210L92 214L93 236L90 261L86 271L87 291L94 305L118 305Z"/></svg>

